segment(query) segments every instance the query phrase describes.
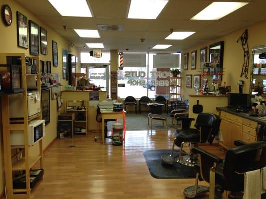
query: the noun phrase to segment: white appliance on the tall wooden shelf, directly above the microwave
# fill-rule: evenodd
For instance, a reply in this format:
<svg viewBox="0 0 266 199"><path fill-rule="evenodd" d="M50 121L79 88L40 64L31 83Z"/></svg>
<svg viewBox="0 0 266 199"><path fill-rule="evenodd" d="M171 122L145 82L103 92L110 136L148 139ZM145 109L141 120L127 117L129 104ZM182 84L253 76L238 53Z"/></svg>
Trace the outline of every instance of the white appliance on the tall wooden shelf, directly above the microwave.
<svg viewBox="0 0 266 199"><path fill-rule="evenodd" d="M40 113L40 93L38 91L27 93L28 118ZM10 118L23 118L23 94L9 96Z"/></svg>

